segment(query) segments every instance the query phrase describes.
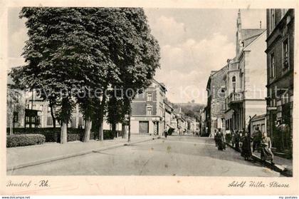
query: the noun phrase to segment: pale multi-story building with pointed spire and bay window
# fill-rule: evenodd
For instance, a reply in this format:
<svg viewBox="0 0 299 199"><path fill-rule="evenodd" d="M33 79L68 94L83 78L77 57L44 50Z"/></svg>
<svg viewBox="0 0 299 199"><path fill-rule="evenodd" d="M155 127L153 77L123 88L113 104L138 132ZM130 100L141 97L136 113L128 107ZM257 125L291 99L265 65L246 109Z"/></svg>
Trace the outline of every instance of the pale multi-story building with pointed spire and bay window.
<svg viewBox="0 0 299 199"><path fill-rule="evenodd" d="M236 57L226 65L226 129L248 130L248 121L266 113L266 30L242 29L236 21Z"/></svg>

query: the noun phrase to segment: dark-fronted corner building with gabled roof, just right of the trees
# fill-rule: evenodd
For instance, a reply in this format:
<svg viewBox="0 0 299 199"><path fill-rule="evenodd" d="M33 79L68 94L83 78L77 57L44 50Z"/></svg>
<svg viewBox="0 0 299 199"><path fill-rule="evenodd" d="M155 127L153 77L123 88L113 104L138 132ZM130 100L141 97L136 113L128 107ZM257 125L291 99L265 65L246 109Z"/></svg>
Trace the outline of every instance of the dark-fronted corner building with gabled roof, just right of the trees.
<svg viewBox="0 0 299 199"><path fill-rule="evenodd" d="M132 101L131 132L162 135L165 121L165 95L163 83L152 84Z"/></svg>

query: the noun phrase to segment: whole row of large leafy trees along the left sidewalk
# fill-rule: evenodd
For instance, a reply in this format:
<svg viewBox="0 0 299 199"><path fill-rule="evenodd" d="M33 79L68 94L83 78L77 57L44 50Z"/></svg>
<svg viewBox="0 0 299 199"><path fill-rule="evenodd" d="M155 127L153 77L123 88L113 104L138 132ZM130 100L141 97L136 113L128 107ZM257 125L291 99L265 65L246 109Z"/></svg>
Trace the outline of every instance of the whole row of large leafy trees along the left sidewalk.
<svg viewBox="0 0 299 199"><path fill-rule="evenodd" d="M159 67L159 45L143 9L25 7L20 17L27 19L26 66L10 75L22 88L41 91L53 124L61 123L61 143L75 103L85 118L83 141L92 127L103 140L105 115L114 131L124 123L130 101Z"/></svg>

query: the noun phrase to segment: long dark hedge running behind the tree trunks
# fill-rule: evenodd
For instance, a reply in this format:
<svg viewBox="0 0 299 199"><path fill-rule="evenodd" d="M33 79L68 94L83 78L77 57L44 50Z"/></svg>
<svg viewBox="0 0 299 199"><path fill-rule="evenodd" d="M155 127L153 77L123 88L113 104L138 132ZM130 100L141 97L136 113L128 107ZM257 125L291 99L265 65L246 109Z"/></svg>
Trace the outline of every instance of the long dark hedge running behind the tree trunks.
<svg viewBox="0 0 299 199"><path fill-rule="evenodd" d="M71 141L82 141L84 136L84 129L82 128L68 128L68 142ZM9 128L6 129L6 135L9 133ZM41 134L45 136L46 142L60 142L61 136L61 128L14 128L15 135L23 135L23 134ZM120 135L121 131L119 131ZM90 132L90 139L95 140L98 139L98 133ZM104 140L111 140L115 138L112 131L104 130Z"/></svg>

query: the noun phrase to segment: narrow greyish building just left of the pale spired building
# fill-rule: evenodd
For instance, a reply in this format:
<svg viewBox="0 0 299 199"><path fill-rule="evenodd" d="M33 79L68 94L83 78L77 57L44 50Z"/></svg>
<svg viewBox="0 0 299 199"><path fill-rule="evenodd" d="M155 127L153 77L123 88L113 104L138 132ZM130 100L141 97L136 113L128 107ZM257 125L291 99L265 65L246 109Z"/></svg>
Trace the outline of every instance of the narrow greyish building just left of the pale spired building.
<svg viewBox="0 0 299 199"><path fill-rule="evenodd" d="M226 66L219 71L211 71L206 91L208 95L206 111L206 127L213 136L216 128L225 128L225 76Z"/></svg>

